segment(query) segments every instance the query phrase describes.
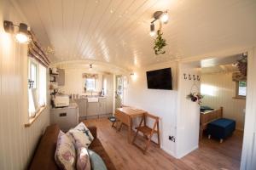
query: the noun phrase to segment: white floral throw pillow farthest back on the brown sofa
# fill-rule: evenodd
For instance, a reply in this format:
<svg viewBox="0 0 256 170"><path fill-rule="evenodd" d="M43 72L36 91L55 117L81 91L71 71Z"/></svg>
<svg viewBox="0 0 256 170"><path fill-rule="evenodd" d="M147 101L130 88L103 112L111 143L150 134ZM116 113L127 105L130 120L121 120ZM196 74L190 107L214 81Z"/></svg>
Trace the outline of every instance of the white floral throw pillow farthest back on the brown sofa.
<svg viewBox="0 0 256 170"><path fill-rule="evenodd" d="M77 127L69 130L68 133L73 135L77 149L79 147L88 148L94 139L89 129L84 125L83 122L81 122Z"/></svg>

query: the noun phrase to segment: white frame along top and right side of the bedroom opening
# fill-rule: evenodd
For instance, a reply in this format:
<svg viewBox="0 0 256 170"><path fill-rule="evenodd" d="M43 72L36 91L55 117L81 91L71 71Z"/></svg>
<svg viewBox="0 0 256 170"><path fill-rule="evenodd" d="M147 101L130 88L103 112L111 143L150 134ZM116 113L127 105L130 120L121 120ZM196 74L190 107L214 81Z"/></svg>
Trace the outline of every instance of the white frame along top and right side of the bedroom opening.
<svg viewBox="0 0 256 170"><path fill-rule="evenodd" d="M192 56L182 61L196 61L201 59L220 58L233 54L247 52L247 101L245 111L243 143L241 150L241 166L240 169L253 169L256 167L256 46L245 48L230 48L200 56ZM208 56L208 57L206 57Z"/></svg>

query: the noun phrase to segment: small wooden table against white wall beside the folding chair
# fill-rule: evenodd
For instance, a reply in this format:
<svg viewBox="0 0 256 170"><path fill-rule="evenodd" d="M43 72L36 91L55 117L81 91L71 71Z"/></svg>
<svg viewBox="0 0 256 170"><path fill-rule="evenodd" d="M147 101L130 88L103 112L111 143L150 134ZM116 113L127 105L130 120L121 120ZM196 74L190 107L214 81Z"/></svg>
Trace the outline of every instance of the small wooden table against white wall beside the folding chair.
<svg viewBox="0 0 256 170"><path fill-rule="evenodd" d="M114 116L122 123L128 126L128 142L131 143L132 137L132 119L138 116L143 116L147 111L138 110L131 107L123 107L115 110Z"/></svg>

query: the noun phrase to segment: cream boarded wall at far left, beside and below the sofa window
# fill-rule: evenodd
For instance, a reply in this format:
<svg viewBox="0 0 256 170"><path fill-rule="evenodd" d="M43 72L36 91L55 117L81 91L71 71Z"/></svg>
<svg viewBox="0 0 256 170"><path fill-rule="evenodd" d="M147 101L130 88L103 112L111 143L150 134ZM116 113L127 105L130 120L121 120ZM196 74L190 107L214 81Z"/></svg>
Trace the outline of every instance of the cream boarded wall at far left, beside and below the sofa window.
<svg viewBox="0 0 256 170"><path fill-rule="evenodd" d="M25 169L39 136L49 124L49 109L31 127L27 121L27 47L3 30L3 20L24 22L10 1L0 1L0 169Z"/></svg>

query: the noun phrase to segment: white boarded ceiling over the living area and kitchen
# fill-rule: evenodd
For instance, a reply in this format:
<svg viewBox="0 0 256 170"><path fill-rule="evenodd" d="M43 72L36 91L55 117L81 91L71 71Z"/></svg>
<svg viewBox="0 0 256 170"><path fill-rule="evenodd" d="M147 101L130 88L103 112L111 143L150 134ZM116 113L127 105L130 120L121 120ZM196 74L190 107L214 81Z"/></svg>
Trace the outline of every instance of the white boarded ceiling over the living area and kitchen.
<svg viewBox="0 0 256 170"><path fill-rule="evenodd" d="M256 44L255 0L16 0L53 62L93 60L133 69ZM149 24L166 10L166 54L154 55Z"/></svg>

